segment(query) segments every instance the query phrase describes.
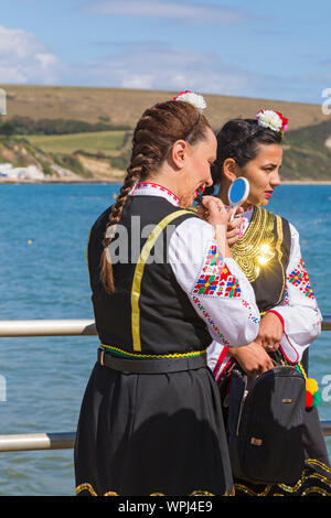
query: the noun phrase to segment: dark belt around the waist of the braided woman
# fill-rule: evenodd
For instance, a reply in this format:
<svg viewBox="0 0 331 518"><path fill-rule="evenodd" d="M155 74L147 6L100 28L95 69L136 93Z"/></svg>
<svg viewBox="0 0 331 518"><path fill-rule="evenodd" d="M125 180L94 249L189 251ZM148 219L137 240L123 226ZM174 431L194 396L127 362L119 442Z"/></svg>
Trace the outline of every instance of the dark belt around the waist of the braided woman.
<svg viewBox="0 0 331 518"><path fill-rule="evenodd" d="M124 359L115 358L105 349L98 348L98 361L102 366L126 374L180 373L205 367L206 354L186 358Z"/></svg>

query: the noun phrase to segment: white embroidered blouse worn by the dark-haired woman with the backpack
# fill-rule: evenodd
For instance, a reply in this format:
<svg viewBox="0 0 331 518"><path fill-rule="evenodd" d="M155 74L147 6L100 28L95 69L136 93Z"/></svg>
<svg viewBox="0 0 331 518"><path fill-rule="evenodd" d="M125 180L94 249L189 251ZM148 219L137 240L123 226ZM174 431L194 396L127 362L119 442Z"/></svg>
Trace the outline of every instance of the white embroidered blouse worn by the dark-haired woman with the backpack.
<svg viewBox="0 0 331 518"><path fill-rule="evenodd" d="M239 228L239 237L247 230L252 216L253 207L242 214L244 222ZM285 299L271 311L278 315L282 323L280 347L286 357L291 363L296 363L301 360L305 349L320 335L322 315L301 257L299 233L291 224L290 233L291 250L286 270ZM228 347L213 342L207 349L207 357L209 366L217 381L232 361Z"/></svg>

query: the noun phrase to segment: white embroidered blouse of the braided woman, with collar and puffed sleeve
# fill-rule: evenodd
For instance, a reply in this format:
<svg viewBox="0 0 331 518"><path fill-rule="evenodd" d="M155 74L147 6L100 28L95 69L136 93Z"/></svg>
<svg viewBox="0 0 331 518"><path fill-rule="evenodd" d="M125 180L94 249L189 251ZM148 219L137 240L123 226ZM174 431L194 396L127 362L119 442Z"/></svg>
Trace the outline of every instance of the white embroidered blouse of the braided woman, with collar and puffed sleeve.
<svg viewBox="0 0 331 518"><path fill-rule="evenodd" d="M180 205L178 196L154 183L139 183L130 195L161 196ZM256 338L259 311L254 290L235 260L222 257L209 223L194 217L177 226L169 240L169 263L214 344L239 347Z"/></svg>

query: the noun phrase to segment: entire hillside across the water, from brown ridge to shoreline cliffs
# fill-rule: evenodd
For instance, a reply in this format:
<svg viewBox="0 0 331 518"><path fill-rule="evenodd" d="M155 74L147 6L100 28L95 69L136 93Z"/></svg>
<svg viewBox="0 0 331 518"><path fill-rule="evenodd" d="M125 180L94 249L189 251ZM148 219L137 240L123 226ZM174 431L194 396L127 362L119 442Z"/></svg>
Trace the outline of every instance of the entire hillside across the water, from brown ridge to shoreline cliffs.
<svg viewBox="0 0 331 518"><path fill-rule="evenodd" d="M38 164L47 177L118 181L130 158L131 134L142 111L175 93L125 88L1 85L7 116L17 134L1 137L0 162ZM261 108L289 118L284 139L282 177L331 181L331 116L318 105L204 95L206 117L217 131L235 117L255 117ZM330 120L329 120L330 119ZM103 127L103 131L98 129ZM93 128L93 129L92 129ZM32 134L34 130L39 134ZM18 134L21 133L21 134ZM49 134L52 133L52 134ZM65 134L62 134L65 133Z"/></svg>

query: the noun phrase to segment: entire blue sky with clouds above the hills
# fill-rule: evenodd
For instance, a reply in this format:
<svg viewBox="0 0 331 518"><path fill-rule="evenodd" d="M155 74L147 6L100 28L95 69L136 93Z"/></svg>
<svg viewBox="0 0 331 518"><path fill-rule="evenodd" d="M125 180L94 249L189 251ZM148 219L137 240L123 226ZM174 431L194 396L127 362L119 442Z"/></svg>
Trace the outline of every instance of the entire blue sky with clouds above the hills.
<svg viewBox="0 0 331 518"><path fill-rule="evenodd" d="M331 2L2 0L0 83L322 102Z"/></svg>

